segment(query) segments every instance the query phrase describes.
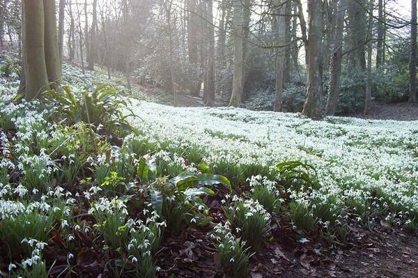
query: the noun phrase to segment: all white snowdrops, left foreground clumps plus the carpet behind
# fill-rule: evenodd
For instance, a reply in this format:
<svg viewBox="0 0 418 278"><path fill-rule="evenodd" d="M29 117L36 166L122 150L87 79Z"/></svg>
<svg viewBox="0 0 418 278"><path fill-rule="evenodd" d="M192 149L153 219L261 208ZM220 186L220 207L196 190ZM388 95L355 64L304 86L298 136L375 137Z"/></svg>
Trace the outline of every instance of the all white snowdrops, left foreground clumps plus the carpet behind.
<svg viewBox="0 0 418 278"><path fill-rule="evenodd" d="M79 71L76 69L68 66L65 70L67 82L75 88L86 83L77 77ZM105 79L96 80L102 81ZM147 258L155 253L158 244L153 243L160 242L160 238L151 235L159 234L160 227L167 225L166 221L151 209L144 209L146 219L125 219L129 214L126 201L100 193L106 183L114 180L117 183L120 178L117 173L114 180L109 176L102 177L100 183L97 180L78 180L80 186L91 185L82 192L61 187L60 179L65 180L67 186L76 184L72 171L77 173L81 169L77 164L80 153L72 152L72 148L86 148L84 139L78 137L82 132L49 123L47 119L51 111L40 109L37 102L10 102L18 82L1 80L0 83L0 232L3 237L8 237L10 247L22 245L23 254L27 256L10 262L8 270L24 277L34 271L36 265L39 275L33 277L45 276L42 250L51 244L49 233L55 227L59 237L64 238L65 243L61 244L65 245L65 250L70 250L66 254L69 265L77 256L71 250L77 249L78 231L85 229L83 233L94 233L98 230L95 235L102 235L104 243L113 247L122 246L121 240L126 238L125 252L134 264L135 273L144 270L147 262L154 273L158 268L155 268L153 259ZM144 142L144 153L149 151L151 157L160 163L165 162L165 169L169 169L167 171L173 176L185 170L198 173L201 171L199 164L203 162L214 173L231 180L236 192L232 192L232 197L226 195L226 199L238 201L234 194L241 192L242 188L251 191L258 185L283 196L276 191L276 185L281 182L281 177L274 171L277 163L301 161L316 170L319 186L298 190L287 188L288 199L312 211L326 203L332 206L327 211L334 214L329 219L315 215L318 222L313 224L327 227L330 219L334 219L334 225L341 226L348 217L344 212L350 211L358 216L359 222L382 217L389 224L396 219L399 224L415 229L418 225L418 121L367 121L340 117L311 121L300 114L236 108L176 108L137 98L131 102L129 108L138 117L130 118L130 123L140 132L125 137L125 146L132 141ZM5 132L10 127L15 129L13 138ZM65 149L67 145L69 147ZM57 150L60 150L60 157L56 157ZM120 148L112 147L110 160L117 164L130 155L132 153L122 153ZM109 168L111 164L106 153L85 157L85 162L95 169L95 179L98 179L100 169ZM134 160L133 163L137 166L139 162ZM63 175L59 174L61 172ZM19 173L24 174L24 179L17 178L16 181L13 175ZM59 178L54 178L57 176ZM136 183L137 180L132 180L133 187L138 186ZM281 202L284 204L289 200ZM95 218L97 224L94 227L80 227L75 222L75 211L85 207L86 203L88 211L85 213ZM222 203L229 201L222 200ZM258 201L246 197L242 208L249 210L245 217L258 214L266 223L270 219L270 214ZM199 210L208 208L201 204ZM116 219L123 220L116 226L117 233L109 235L104 226L114 215L123 215ZM190 222L196 222L196 219L193 217ZM297 226L297 220L291 213L290 222ZM45 229L35 226L40 232L33 236L33 231L28 228L33 228L30 223L45 226ZM303 230L303 227L299 228ZM219 252L228 242L233 245L232 249L242 247L234 237L230 223L217 224L214 231L219 235L215 238L221 242L217 245ZM227 240L222 241L221 235ZM72 245L71 242L75 243ZM261 245L260 242L255 244ZM228 261L233 263L234 258L232 256Z"/></svg>

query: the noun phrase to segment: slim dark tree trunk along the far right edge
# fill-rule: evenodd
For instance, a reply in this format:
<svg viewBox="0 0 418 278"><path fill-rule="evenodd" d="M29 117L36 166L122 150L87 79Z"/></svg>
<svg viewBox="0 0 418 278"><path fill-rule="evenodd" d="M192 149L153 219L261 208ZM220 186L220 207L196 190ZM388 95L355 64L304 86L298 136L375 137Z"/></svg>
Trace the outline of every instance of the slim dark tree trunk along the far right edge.
<svg viewBox="0 0 418 278"><path fill-rule="evenodd" d="M409 102L418 102L418 98L417 98L417 0L411 0Z"/></svg>

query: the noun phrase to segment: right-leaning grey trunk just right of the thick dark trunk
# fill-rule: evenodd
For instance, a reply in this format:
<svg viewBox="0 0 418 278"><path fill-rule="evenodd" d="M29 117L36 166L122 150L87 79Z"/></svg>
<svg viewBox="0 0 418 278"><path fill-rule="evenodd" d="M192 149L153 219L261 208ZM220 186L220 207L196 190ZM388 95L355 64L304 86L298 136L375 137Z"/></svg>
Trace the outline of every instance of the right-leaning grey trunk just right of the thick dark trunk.
<svg viewBox="0 0 418 278"><path fill-rule="evenodd" d="M346 16L346 0L339 0L336 15L336 30L334 33L334 47L330 58L330 93L328 95L325 114L334 115L341 90L341 63L343 60L343 29Z"/></svg>

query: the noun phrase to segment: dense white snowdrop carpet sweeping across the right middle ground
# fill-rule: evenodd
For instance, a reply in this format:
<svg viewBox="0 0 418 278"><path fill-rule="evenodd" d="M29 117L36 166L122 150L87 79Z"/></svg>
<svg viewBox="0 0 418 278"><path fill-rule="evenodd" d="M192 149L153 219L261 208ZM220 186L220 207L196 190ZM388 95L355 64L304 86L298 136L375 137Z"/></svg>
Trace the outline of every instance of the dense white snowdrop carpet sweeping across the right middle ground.
<svg viewBox="0 0 418 278"><path fill-rule="evenodd" d="M418 121L311 121L300 114L145 101L135 101L132 109L141 118L132 123L147 140L199 148L208 164L268 169L277 162L302 160L316 169L316 194L323 199L336 196L341 206L347 199L366 203L371 191L378 190L380 205L418 215ZM309 202L304 192L297 199Z"/></svg>

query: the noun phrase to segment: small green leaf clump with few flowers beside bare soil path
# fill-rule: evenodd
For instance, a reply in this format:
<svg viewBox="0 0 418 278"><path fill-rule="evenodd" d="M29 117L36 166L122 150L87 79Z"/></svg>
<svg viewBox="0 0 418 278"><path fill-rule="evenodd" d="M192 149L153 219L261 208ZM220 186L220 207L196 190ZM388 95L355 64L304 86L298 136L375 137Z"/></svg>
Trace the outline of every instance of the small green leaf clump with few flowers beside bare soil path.
<svg viewBox="0 0 418 278"><path fill-rule="evenodd" d="M310 231L314 228L317 219L304 203L293 201L289 203L288 211L289 218L297 229Z"/></svg>

